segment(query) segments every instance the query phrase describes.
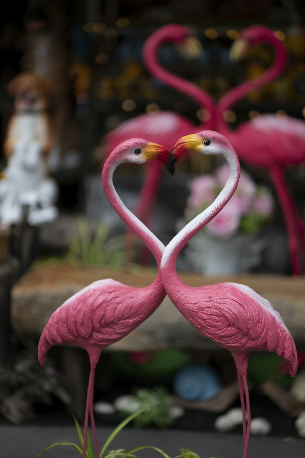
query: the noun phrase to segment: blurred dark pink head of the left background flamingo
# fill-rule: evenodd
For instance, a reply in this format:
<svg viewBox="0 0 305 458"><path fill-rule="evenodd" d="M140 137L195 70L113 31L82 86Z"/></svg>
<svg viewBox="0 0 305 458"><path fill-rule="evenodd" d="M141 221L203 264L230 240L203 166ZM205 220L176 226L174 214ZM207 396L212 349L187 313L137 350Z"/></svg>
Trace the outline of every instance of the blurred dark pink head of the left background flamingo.
<svg viewBox="0 0 305 458"><path fill-rule="evenodd" d="M146 58L150 54L151 46L159 46L168 41L182 44L185 54L189 57L197 58L203 53L199 40L193 36L189 28L180 24L167 24L152 33L146 40L143 47L143 57Z"/></svg>

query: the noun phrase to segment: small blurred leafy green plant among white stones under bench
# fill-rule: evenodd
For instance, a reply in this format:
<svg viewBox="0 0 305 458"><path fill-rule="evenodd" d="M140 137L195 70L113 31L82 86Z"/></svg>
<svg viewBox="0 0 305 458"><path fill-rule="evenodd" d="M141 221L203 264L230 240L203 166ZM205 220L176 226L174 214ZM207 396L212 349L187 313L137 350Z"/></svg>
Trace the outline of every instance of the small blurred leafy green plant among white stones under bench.
<svg viewBox="0 0 305 458"><path fill-rule="evenodd" d="M150 390L140 388L136 390L130 408L124 414L128 415L141 409L142 413L134 418L134 425L137 428L148 425L166 428L172 421L171 406L171 397L165 388L155 387Z"/></svg>

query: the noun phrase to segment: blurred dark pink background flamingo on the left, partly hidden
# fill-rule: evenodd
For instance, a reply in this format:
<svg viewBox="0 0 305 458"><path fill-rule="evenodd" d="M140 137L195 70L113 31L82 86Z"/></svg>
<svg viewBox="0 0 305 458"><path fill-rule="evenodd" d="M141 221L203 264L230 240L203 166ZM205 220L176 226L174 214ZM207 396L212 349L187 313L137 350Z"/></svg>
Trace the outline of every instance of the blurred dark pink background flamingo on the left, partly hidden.
<svg viewBox="0 0 305 458"><path fill-rule="evenodd" d="M193 125L185 117L172 111L161 111L155 114L141 114L135 118L124 121L105 136L103 153L106 157L118 143L130 137L143 136L149 141L154 140L170 148L181 135L197 132L198 129L213 128L215 120L214 102L209 94L203 91L203 89L196 87L193 83L187 82L181 77L171 74L159 64L158 49L163 43L168 41L184 44L193 55L196 54L198 42L191 35L191 31L178 24L169 24L160 27L145 41L142 55L146 68L153 76L166 83L168 86L196 100L201 108L208 110L209 120L204 121L198 127ZM144 182L139 193L137 204L134 208L134 214L140 218L147 227L150 227L162 173L161 167L157 163L150 163L145 172ZM147 264L147 259L144 260L144 264Z"/></svg>

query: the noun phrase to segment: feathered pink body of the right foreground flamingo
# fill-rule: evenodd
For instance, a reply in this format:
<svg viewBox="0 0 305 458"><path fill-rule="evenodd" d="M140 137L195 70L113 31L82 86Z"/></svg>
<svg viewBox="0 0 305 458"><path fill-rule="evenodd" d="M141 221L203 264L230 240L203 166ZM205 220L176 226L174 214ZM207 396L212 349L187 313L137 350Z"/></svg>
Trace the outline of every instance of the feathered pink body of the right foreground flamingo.
<svg viewBox="0 0 305 458"><path fill-rule="evenodd" d="M229 350L246 355L267 350L289 362L292 376L297 370L294 340L270 302L243 284L219 283L193 288L170 299L183 316L205 337Z"/></svg>

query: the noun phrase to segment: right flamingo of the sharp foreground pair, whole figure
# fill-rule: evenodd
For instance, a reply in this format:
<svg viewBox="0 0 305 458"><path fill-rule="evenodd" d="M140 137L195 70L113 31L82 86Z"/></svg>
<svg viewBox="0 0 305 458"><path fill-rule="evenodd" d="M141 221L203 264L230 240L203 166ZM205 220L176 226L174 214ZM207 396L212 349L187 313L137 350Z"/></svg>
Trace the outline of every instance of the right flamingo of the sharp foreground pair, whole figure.
<svg viewBox="0 0 305 458"><path fill-rule="evenodd" d="M214 154L225 158L229 164L229 178L215 201L183 228L166 246L161 260L161 277L172 303L183 316L204 336L228 349L235 361L243 411L244 458L250 435L250 401L246 381L250 351L274 351L289 363L289 373L294 376L298 359L294 340L281 316L272 305L253 289L237 283L221 283L192 288L177 275L176 261L182 247L193 235L209 223L230 200L236 189L240 165L230 142L214 131L180 138L172 148L169 166L186 151ZM246 394L246 410L243 387ZM246 426L247 411L247 426Z"/></svg>

